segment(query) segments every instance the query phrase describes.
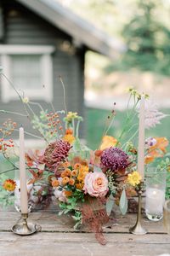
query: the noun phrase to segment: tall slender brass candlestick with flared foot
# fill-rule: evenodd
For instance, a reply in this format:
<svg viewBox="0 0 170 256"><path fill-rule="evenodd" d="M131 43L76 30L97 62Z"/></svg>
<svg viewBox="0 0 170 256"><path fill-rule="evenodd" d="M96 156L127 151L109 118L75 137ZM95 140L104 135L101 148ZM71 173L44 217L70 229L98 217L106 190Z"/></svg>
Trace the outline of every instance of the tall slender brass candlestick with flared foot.
<svg viewBox="0 0 170 256"><path fill-rule="evenodd" d="M129 232L134 235L144 235L147 233L147 230L145 230L142 227L141 224L141 208L142 208L142 193L143 193L143 185L144 183L140 183L138 195L139 195L139 205L138 205L138 213L137 213L137 220L136 224L129 229Z"/></svg>

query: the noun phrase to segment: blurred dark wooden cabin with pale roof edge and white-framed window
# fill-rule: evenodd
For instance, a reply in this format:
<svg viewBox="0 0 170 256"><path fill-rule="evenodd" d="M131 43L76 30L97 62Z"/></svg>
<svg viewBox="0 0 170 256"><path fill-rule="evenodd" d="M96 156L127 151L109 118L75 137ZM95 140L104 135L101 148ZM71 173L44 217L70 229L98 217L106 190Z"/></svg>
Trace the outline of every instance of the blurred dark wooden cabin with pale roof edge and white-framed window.
<svg viewBox="0 0 170 256"><path fill-rule="evenodd" d="M20 96L50 110L84 115L84 65L88 49L113 58L123 45L54 0L0 0L0 66ZM24 113L11 84L0 76L0 109ZM35 111L39 111L38 108ZM11 117L0 113L0 123ZM29 121L14 115L18 125Z"/></svg>

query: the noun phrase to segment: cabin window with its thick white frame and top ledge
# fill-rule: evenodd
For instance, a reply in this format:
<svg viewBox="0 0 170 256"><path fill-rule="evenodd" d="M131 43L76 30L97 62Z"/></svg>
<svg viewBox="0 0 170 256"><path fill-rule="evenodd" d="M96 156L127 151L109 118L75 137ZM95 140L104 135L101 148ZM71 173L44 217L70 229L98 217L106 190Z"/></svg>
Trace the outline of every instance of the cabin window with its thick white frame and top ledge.
<svg viewBox="0 0 170 256"><path fill-rule="evenodd" d="M2 49L3 48L3 49ZM51 46L0 45L0 65L20 96L31 100L53 100L53 65ZM2 101L17 100L8 81L1 79Z"/></svg>

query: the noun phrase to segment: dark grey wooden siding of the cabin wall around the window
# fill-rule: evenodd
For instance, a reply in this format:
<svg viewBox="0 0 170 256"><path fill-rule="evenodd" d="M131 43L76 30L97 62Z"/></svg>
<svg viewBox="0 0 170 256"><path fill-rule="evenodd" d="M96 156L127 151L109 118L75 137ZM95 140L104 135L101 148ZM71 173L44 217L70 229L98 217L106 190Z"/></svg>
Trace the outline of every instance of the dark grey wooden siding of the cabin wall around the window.
<svg viewBox="0 0 170 256"><path fill-rule="evenodd" d="M54 45L54 108L64 109L63 89L59 82L59 75L62 77L66 90L66 105L68 110L83 115L83 65L84 49L77 49L75 52L66 52L59 49L60 43L67 41L71 44L71 38L64 32L50 25L46 20L24 6L11 0L0 0L3 7L5 34L3 44L29 44L29 45ZM1 89L0 89L1 96ZM43 108L49 108L46 102L40 102ZM8 109L20 112L22 108L19 101L11 101L4 104L0 100L0 109ZM9 117L9 115L8 115ZM0 113L0 123L7 116ZM20 125L26 124L27 130L31 131L29 122L16 116Z"/></svg>

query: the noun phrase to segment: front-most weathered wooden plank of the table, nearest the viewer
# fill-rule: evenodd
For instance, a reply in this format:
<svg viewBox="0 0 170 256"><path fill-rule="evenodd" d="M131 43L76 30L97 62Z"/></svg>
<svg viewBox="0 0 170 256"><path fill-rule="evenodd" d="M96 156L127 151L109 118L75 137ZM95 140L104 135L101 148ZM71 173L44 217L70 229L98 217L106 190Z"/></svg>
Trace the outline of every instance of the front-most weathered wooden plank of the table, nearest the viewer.
<svg viewBox="0 0 170 256"><path fill-rule="evenodd" d="M106 234L107 244L101 246L94 234L38 233L34 236L16 236L0 233L1 255L81 255L81 256L129 256L159 255L170 253L170 236L131 234Z"/></svg>

